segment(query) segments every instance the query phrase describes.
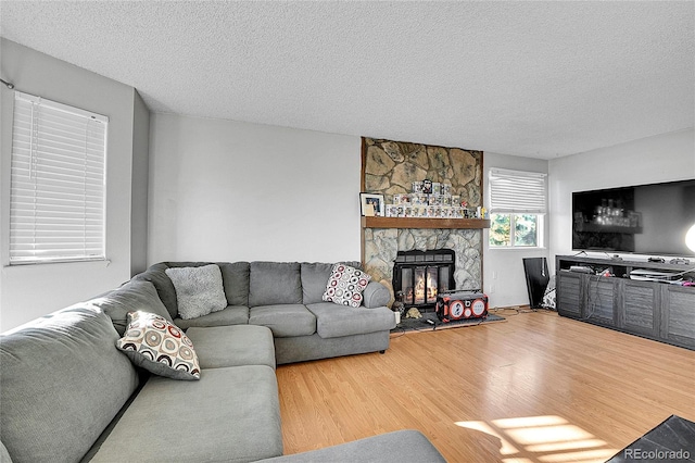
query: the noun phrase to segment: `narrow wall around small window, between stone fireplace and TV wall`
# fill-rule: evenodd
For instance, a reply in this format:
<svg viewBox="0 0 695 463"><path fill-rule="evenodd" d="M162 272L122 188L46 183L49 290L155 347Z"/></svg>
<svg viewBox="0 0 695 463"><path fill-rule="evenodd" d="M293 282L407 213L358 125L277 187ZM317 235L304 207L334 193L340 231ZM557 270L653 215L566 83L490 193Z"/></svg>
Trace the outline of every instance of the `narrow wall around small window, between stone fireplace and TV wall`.
<svg viewBox="0 0 695 463"><path fill-rule="evenodd" d="M515 155L484 153L484 201L490 208L488 174L490 168L547 173L547 161ZM483 289L490 298L491 308L526 305L529 293L523 272L525 258L548 258L548 221L544 223L544 246L535 249L490 248L489 230L483 232ZM549 265L549 262L548 262Z"/></svg>

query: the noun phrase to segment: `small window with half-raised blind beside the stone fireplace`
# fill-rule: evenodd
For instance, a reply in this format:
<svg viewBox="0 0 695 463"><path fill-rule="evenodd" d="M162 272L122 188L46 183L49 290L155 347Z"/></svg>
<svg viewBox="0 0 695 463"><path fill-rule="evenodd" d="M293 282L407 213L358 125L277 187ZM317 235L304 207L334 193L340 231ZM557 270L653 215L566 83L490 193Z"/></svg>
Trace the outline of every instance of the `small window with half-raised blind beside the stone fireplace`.
<svg viewBox="0 0 695 463"><path fill-rule="evenodd" d="M491 247L543 246L545 174L492 168L490 200Z"/></svg>

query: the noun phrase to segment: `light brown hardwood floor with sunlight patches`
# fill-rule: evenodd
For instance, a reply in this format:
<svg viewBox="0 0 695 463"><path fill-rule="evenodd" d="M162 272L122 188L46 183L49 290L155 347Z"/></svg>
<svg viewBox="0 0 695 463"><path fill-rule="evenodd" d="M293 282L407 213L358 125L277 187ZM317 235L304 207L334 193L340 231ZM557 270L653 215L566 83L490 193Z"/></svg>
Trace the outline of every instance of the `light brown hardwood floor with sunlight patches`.
<svg viewBox="0 0 695 463"><path fill-rule="evenodd" d="M695 421L695 351L516 313L279 366L285 453L413 428L450 462L603 462L671 414Z"/></svg>

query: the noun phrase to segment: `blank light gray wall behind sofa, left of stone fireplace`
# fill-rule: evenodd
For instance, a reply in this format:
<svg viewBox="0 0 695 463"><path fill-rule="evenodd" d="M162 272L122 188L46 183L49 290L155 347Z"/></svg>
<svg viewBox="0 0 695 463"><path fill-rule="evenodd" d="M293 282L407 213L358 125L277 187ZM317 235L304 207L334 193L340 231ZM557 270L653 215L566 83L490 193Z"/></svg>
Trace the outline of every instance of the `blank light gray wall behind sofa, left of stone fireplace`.
<svg viewBox="0 0 695 463"><path fill-rule="evenodd" d="M152 114L148 261L359 260L361 139Z"/></svg>

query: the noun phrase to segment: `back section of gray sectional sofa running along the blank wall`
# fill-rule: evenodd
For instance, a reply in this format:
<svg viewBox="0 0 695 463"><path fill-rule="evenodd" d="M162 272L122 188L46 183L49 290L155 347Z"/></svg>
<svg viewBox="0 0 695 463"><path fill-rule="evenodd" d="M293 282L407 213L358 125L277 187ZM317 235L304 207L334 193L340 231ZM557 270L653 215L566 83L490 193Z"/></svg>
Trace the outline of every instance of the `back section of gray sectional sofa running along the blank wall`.
<svg viewBox="0 0 695 463"><path fill-rule="evenodd" d="M358 267L358 262L345 262ZM395 318L386 304L389 290L377 281L365 289L363 305L336 310L323 295L333 264L298 262L218 262L228 306L182 320L167 268L197 267L208 262L162 262L136 275L151 281L174 323L188 329L237 324L267 326L275 338L277 363L293 363L388 349Z"/></svg>

